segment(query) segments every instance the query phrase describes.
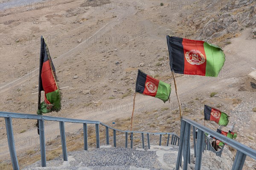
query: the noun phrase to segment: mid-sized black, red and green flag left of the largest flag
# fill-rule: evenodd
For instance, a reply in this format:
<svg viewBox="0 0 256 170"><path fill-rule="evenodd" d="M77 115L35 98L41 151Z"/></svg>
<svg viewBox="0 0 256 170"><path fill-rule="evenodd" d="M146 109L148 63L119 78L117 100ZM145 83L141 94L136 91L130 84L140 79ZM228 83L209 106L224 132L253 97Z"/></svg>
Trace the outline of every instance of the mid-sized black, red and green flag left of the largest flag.
<svg viewBox="0 0 256 170"><path fill-rule="evenodd" d="M148 76L138 70L136 92L153 96L166 102L171 94L171 85Z"/></svg>

